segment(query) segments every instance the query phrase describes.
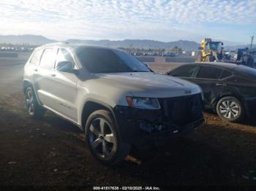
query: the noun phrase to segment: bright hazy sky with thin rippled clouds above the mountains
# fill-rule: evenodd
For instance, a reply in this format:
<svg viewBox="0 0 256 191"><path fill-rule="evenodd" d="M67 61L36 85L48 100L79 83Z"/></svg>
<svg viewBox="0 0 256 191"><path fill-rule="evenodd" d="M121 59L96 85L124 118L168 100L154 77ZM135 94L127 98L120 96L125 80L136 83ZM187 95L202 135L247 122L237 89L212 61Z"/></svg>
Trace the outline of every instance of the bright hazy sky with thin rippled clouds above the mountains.
<svg viewBox="0 0 256 191"><path fill-rule="evenodd" d="M0 34L249 43L256 0L0 0Z"/></svg>

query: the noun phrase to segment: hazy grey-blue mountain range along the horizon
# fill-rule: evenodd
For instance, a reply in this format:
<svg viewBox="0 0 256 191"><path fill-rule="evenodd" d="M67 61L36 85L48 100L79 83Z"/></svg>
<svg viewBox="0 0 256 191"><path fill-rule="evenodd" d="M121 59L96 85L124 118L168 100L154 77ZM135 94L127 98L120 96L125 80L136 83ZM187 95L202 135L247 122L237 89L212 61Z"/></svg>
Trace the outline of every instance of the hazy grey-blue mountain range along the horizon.
<svg viewBox="0 0 256 191"><path fill-rule="evenodd" d="M30 44L30 45L41 45L57 42L54 39L48 39L45 36L38 35L0 35L0 43L7 44ZM81 39L67 39L65 42L69 43L83 43L98 46L107 47L139 47L139 48L165 48L170 49L173 47L181 47L183 50L197 50L200 46L199 43L187 40L178 40L175 42L160 42L148 39L125 39L125 40L81 40ZM229 46L229 50L235 50L238 47L246 47L245 45L240 46ZM227 47L226 47L227 48Z"/></svg>

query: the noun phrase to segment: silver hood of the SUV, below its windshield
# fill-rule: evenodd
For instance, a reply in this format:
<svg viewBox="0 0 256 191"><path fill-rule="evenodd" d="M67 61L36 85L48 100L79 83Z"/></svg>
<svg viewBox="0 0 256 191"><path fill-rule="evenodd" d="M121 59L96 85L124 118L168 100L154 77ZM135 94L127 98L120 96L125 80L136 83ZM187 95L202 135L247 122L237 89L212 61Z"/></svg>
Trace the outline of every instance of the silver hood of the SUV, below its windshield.
<svg viewBox="0 0 256 191"><path fill-rule="evenodd" d="M200 93L200 87L184 79L153 72L95 74L100 83L128 90L133 96L169 98Z"/></svg>

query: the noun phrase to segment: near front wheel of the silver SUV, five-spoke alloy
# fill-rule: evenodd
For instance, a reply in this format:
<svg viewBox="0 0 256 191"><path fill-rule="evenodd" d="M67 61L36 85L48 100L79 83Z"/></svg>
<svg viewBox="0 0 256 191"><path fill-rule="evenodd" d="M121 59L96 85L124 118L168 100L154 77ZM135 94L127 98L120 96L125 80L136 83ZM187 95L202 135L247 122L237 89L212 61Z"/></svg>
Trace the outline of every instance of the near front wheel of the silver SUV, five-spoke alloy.
<svg viewBox="0 0 256 191"><path fill-rule="evenodd" d="M106 110L93 112L86 122L86 141L94 157L102 163L115 164L129 154L129 145L118 137L112 114Z"/></svg>

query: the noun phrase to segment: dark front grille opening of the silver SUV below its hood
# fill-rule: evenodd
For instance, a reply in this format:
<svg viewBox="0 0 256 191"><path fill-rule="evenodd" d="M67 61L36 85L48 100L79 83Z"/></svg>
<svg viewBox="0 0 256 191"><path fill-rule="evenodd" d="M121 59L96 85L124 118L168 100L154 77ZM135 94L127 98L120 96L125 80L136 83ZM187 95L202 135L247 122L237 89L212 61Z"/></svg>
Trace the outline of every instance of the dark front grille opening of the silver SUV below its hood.
<svg viewBox="0 0 256 191"><path fill-rule="evenodd" d="M203 117L200 93L174 98L160 98L162 115L170 125L184 126Z"/></svg>

